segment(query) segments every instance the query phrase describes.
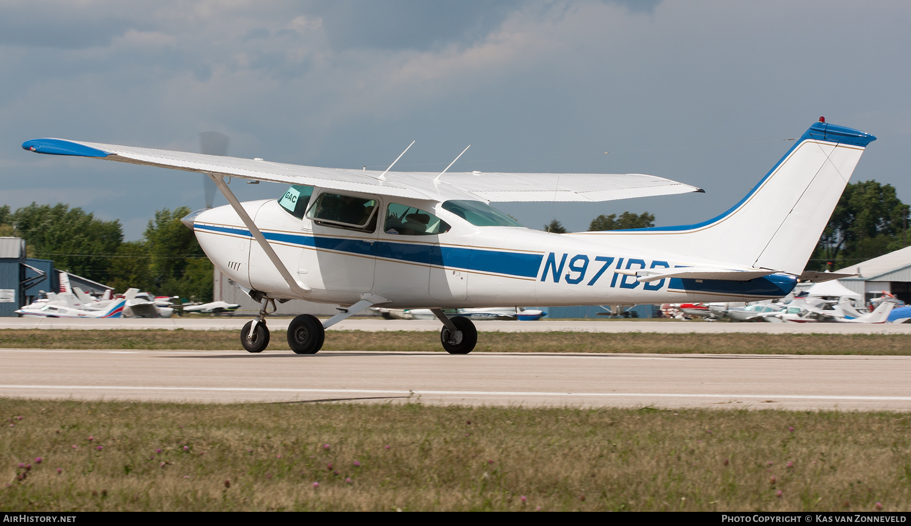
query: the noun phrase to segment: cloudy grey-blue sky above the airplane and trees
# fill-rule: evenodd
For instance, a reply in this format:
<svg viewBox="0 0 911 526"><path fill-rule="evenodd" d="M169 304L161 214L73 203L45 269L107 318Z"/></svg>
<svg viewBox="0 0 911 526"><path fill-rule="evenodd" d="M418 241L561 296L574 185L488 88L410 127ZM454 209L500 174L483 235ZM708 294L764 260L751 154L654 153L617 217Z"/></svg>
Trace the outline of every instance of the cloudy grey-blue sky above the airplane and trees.
<svg viewBox="0 0 911 526"><path fill-rule="evenodd" d="M705 194L501 204L530 228L721 213L819 116L879 137L853 180L911 202L911 3L0 0L0 205L65 202L138 239L201 176L37 156L63 137L322 167L644 173ZM610 152L605 155L604 152ZM278 197L271 184L234 187ZM217 197L216 204L225 203Z"/></svg>

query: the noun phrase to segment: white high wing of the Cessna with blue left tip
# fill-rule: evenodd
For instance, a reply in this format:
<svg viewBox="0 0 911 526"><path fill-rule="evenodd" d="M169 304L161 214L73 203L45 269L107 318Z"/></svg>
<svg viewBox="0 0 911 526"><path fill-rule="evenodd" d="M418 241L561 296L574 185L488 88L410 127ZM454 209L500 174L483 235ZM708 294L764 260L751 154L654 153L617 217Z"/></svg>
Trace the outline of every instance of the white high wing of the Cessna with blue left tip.
<svg viewBox="0 0 911 526"><path fill-rule="evenodd" d="M609 201L629 197L702 192L701 188L642 174L503 174L388 172L303 167L261 159L209 156L58 138L32 139L22 147L41 154L97 157L224 177L307 185L393 197L485 201ZM381 178L382 177L382 178Z"/></svg>

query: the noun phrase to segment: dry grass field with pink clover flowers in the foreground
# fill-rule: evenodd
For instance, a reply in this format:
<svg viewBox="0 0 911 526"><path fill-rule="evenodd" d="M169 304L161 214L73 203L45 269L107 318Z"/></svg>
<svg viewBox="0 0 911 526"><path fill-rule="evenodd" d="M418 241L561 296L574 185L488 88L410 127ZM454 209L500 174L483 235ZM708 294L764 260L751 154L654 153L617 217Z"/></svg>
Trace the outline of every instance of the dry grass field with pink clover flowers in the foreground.
<svg viewBox="0 0 911 526"><path fill-rule="evenodd" d="M3 511L911 508L907 414L48 400L0 413Z"/></svg>

